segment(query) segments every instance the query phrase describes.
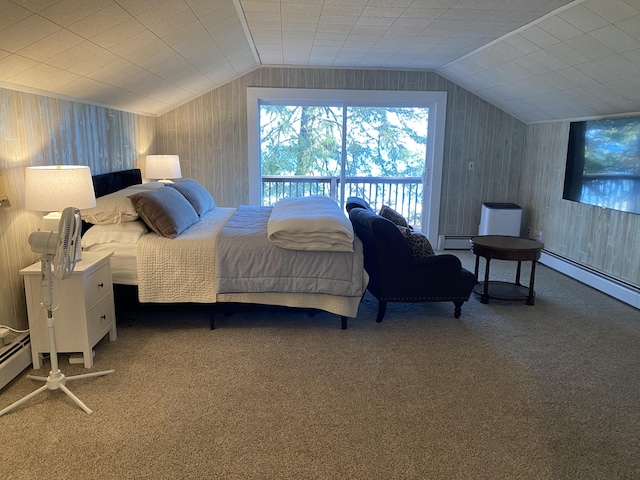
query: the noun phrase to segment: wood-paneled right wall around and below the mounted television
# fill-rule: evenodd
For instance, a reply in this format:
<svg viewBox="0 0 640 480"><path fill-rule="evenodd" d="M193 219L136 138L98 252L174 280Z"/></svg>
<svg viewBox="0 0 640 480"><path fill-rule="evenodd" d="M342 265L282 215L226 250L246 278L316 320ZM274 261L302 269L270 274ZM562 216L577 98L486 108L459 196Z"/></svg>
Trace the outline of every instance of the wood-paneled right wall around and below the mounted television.
<svg viewBox="0 0 640 480"><path fill-rule="evenodd" d="M640 288L640 215L562 199L569 123L526 127L520 201L545 249Z"/></svg>

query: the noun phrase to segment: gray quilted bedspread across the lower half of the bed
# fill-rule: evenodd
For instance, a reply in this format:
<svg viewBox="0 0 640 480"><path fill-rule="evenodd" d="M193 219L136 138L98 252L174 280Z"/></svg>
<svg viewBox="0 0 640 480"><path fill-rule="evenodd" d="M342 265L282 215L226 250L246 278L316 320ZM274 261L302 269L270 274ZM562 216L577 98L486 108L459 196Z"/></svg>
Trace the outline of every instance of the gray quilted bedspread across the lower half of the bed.
<svg viewBox="0 0 640 480"><path fill-rule="evenodd" d="M364 292L362 243L354 252L289 250L267 238L271 207L240 206L216 240L217 293L287 292L359 297Z"/></svg>

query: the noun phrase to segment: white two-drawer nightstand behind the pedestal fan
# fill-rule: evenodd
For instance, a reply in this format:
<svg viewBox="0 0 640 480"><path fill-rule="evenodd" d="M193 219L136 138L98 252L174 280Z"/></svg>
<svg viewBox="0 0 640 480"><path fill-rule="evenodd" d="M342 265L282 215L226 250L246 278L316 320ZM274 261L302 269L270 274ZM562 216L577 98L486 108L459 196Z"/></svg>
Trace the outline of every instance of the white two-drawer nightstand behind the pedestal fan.
<svg viewBox="0 0 640 480"><path fill-rule="evenodd" d="M59 353L81 352L85 368L93 367L93 347L107 333L117 338L110 257L83 252L71 277L53 278L53 318ZM49 353L47 310L42 306L40 262L20 270L29 316L33 368L42 367L40 353Z"/></svg>

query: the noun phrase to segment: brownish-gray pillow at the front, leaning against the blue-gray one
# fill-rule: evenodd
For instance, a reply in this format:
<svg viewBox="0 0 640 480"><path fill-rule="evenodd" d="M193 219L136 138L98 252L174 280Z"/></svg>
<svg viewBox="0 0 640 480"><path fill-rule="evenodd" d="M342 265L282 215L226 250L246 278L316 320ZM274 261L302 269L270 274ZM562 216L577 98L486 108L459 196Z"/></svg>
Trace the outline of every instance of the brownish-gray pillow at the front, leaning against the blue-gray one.
<svg viewBox="0 0 640 480"><path fill-rule="evenodd" d="M129 197L147 226L167 238L174 238L200 220L198 213L174 188L159 188Z"/></svg>

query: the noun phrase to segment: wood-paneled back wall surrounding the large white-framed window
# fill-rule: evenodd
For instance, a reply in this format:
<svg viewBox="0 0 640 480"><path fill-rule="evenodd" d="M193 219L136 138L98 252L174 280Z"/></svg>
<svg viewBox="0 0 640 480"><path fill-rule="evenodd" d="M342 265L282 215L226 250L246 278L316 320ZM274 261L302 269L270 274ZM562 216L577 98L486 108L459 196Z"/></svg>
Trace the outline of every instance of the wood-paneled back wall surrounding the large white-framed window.
<svg viewBox="0 0 640 480"><path fill-rule="evenodd" d="M524 124L440 75L262 67L158 118L158 153L180 155L221 206L249 201L247 87L446 91L440 234L477 234L482 202L517 199Z"/></svg>

